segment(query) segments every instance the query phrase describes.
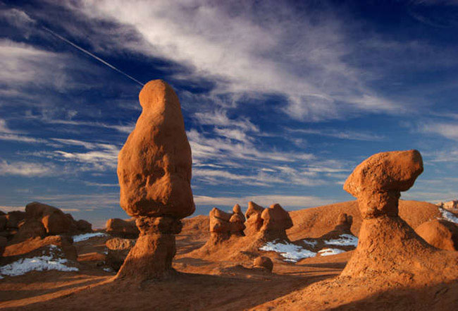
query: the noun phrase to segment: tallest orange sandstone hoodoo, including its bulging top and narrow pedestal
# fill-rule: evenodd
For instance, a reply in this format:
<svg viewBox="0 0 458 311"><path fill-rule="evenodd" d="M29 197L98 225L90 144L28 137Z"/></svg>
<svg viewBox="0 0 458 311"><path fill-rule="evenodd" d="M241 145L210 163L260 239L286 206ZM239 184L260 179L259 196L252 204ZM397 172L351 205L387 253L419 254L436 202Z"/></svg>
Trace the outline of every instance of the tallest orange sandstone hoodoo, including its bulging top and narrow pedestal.
<svg viewBox="0 0 458 311"><path fill-rule="evenodd" d="M163 279L173 273L180 219L194 212L191 148L180 102L162 80L140 92L142 114L118 155L120 206L136 218L140 237L118 279Z"/></svg>

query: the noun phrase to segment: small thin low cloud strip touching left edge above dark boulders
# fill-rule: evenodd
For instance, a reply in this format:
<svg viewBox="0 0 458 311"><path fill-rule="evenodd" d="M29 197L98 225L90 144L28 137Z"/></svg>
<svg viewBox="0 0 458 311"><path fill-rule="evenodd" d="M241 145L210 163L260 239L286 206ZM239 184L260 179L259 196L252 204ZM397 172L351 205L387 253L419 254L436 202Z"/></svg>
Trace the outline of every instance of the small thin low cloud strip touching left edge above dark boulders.
<svg viewBox="0 0 458 311"><path fill-rule="evenodd" d="M0 175L13 175L24 177L49 176L54 174L53 164L40 164L31 162L0 162Z"/></svg>

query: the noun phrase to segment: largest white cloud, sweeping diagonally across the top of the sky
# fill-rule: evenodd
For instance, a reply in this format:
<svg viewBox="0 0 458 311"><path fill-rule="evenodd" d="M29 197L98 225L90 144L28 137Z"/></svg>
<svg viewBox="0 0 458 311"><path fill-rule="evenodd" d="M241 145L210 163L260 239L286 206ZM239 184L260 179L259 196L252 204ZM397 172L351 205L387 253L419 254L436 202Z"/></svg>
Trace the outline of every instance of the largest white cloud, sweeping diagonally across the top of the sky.
<svg viewBox="0 0 458 311"><path fill-rule="evenodd" d="M205 0L131 1L128 6L113 0L66 1L66 6L136 30L142 39L118 39L119 49L187 66L192 73L183 78L211 78L216 81L213 94L280 94L287 99L287 114L311 121L352 111L403 110L366 86L364 71L343 61L359 47L350 44L345 23L333 13L312 18L273 1L256 6ZM107 38L101 32L93 43Z"/></svg>

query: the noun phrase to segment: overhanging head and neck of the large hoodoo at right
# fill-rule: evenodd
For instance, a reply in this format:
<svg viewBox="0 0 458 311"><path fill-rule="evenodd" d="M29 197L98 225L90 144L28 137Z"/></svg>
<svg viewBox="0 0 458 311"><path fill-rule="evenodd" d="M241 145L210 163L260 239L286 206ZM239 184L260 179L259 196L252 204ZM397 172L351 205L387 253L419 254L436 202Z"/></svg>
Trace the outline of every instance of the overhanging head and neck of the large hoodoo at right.
<svg viewBox="0 0 458 311"><path fill-rule="evenodd" d="M395 216L400 192L409 190L422 172L423 160L416 150L380 152L354 169L344 190L357 197L364 219Z"/></svg>

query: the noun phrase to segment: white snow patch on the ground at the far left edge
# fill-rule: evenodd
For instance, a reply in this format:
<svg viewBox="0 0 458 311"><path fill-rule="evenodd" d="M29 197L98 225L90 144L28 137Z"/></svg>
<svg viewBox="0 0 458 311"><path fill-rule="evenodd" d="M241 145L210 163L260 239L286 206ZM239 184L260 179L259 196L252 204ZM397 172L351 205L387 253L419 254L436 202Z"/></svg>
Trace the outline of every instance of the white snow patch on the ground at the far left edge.
<svg viewBox="0 0 458 311"><path fill-rule="evenodd" d="M59 252L61 253L61 250L56 245L49 245L49 255L42 255L33 258L21 258L16 262L1 266L0 274L18 276L31 271L78 271L78 268L66 266L65 264L68 260L58 257Z"/></svg>

